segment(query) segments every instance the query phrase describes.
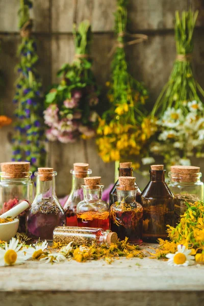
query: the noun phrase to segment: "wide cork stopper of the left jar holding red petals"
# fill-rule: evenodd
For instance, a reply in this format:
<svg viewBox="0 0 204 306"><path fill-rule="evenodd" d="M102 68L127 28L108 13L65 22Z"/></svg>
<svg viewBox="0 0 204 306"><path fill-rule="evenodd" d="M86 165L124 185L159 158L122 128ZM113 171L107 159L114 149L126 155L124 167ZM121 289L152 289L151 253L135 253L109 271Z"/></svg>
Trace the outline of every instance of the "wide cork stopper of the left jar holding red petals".
<svg viewBox="0 0 204 306"><path fill-rule="evenodd" d="M2 172L11 179L23 178L28 176L30 170L29 162L7 162L1 163Z"/></svg>

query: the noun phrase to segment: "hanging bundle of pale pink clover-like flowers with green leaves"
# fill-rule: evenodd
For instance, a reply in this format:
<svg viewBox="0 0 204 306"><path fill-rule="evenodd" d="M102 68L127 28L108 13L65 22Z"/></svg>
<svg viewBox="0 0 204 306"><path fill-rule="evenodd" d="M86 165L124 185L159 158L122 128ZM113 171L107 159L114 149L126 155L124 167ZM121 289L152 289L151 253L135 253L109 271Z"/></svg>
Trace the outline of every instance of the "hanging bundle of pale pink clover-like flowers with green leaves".
<svg viewBox="0 0 204 306"><path fill-rule="evenodd" d="M72 64L64 64L58 71L62 76L59 85L54 86L46 95L44 111L47 139L62 143L74 142L82 137L95 135L97 120L98 89L90 58L92 40L91 25L88 20L74 25L73 37L75 56Z"/></svg>

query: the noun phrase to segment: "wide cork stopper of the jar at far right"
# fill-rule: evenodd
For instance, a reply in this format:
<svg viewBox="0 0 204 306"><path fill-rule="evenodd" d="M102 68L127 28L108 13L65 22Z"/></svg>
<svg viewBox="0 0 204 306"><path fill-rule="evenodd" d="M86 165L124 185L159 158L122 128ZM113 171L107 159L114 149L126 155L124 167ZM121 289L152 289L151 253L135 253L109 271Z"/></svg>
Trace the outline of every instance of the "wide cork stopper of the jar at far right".
<svg viewBox="0 0 204 306"><path fill-rule="evenodd" d="M195 166L171 166L171 179L174 182L196 182L201 176L200 167Z"/></svg>

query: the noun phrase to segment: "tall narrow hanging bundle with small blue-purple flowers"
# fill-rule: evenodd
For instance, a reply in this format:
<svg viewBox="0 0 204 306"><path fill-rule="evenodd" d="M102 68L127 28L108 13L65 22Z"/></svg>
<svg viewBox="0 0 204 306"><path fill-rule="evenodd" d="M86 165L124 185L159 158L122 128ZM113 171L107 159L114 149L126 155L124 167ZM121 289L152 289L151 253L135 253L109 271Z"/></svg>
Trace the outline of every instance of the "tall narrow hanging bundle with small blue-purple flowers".
<svg viewBox="0 0 204 306"><path fill-rule="evenodd" d="M31 171L35 171L37 167L44 166L45 149L42 85L35 68L38 55L36 41L32 37L33 22L30 19L30 8L32 8L31 1L20 0L18 14L21 44L18 47L19 77L13 99L17 108L12 161L26 160L31 163Z"/></svg>

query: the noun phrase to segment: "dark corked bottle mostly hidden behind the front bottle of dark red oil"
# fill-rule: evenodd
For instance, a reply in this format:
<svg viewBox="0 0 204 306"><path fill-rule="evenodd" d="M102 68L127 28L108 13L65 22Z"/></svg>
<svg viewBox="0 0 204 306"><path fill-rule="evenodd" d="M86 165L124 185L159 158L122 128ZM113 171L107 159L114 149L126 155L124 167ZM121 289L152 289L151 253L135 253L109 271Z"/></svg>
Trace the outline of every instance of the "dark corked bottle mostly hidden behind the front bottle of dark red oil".
<svg viewBox="0 0 204 306"><path fill-rule="evenodd" d="M131 162L120 163L120 167L118 168L119 176L133 176L133 170L134 170L134 168L132 168L132 163ZM110 205L110 207L113 203L115 203L117 201L117 189L116 189L117 186L119 186L118 180L114 184L114 186L111 189L111 192L109 194L109 205ZM141 190L136 183L135 183L135 186L137 188L136 201L141 203Z"/></svg>

